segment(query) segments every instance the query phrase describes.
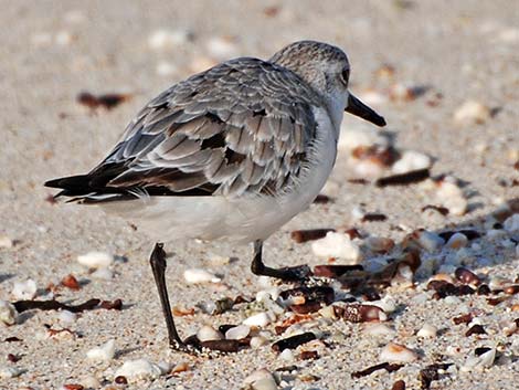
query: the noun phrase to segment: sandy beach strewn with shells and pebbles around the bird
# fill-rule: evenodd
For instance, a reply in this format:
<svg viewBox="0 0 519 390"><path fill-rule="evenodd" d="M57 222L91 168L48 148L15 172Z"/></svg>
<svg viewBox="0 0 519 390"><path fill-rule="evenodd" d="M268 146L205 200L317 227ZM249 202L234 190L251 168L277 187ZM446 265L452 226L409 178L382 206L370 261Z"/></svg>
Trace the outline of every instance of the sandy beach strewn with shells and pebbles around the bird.
<svg viewBox="0 0 519 390"><path fill-rule="evenodd" d="M517 389L518 1L0 7L0 389L396 390L399 380L406 389ZM206 358L171 351L148 262L153 242L96 207L54 202L55 192L43 183L88 171L137 112L170 85L231 57L268 59L303 39L345 50L350 89L388 126L378 130L345 116L336 167L322 190L327 201L311 204L267 240L265 262L354 263L375 272L413 249L420 266L401 268L400 281L392 275L377 286L380 322L351 323L325 307L373 299L352 294L343 280L322 280L336 291L333 303L296 316L276 299L294 285L253 275L251 247L166 242L167 282L183 337L204 325L218 329L257 313L271 316L268 324L252 326L247 336L255 341L244 341L237 352ZM112 95L113 105L81 99L81 93ZM427 177L405 185L377 181L415 169ZM353 228L360 238L345 233ZM308 229L333 229L342 241L320 242L319 254L317 241L290 236ZM342 244L350 252L335 255ZM351 255L351 247L359 252ZM77 261L91 252L106 255L106 265ZM462 267L477 280L459 277ZM184 271L192 268L214 280L188 283ZM431 278L454 289L435 289ZM209 304L237 296L250 302L206 313ZM105 303L76 315L28 309L6 324L7 303L77 305L92 298L121 299L123 306L107 309ZM464 315L465 322L453 319ZM277 334L289 318L294 325ZM283 352L272 348L308 331L316 340ZM87 358L110 340L114 354ZM394 344L405 351L395 351ZM120 370L138 359L148 365L140 373L135 367ZM383 362L401 367L354 375ZM246 380L262 369L264 379Z"/></svg>

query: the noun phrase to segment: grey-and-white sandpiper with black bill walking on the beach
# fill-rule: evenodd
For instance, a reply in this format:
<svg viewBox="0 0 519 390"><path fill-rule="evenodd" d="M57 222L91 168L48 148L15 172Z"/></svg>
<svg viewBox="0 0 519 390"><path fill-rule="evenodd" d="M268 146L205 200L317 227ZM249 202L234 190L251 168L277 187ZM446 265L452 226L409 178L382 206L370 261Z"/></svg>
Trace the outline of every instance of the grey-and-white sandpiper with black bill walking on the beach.
<svg viewBox="0 0 519 390"><path fill-rule="evenodd" d="M254 274L298 278L307 267L264 265L263 241L319 193L345 110L385 125L349 93L349 76L347 55L314 41L292 43L267 61L223 62L149 102L88 173L45 186L116 212L157 241L253 243ZM162 244L150 263L169 342L186 349L171 315Z"/></svg>

